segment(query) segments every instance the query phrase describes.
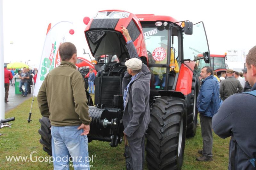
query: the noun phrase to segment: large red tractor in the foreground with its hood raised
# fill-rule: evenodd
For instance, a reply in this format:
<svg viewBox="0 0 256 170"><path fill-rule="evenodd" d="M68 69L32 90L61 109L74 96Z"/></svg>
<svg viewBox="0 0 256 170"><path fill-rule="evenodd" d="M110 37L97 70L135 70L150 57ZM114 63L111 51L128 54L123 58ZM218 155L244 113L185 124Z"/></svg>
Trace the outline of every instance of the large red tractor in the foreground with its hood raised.
<svg viewBox="0 0 256 170"><path fill-rule="evenodd" d="M99 11L90 20L84 33L95 58L92 63L102 65L102 55L107 62L95 79L96 107L89 106L92 122L88 141L108 141L112 147L122 142L121 85L127 71L124 63L130 59L121 26L129 30L138 55L152 73L151 122L146 134L148 169L180 169L185 138L196 133L200 68L194 54L202 54L209 63L204 24L120 10Z"/></svg>

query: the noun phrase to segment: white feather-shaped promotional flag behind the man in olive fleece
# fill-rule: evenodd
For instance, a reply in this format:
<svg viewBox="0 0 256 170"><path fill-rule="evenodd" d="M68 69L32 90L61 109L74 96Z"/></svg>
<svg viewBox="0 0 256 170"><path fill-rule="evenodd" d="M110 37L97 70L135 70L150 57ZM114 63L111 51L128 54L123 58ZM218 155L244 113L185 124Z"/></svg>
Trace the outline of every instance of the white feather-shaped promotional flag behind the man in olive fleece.
<svg viewBox="0 0 256 170"><path fill-rule="evenodd" d="M34 90L34 96L37 96L39 89L44 81L46 75L53 68L60 65L61 59L59 56L59 46L62 42L65 42L65 35L68 34L72 23L69 21L61 21L55 24L47 33L44 48L41 56L39 69L37 72L36 85Z"/></svg>

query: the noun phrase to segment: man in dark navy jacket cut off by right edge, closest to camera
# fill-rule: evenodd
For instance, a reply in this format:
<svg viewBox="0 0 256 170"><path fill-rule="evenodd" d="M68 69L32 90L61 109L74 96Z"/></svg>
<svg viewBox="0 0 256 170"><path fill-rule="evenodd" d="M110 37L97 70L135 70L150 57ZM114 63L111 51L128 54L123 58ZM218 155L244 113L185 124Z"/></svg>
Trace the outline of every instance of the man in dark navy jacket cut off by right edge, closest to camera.
<svg viewBox="0 0 256 170"><path fill-rule="evenodd" d="M246 57L246 78L256 90L256 46ZM249 92L252 93L252 92ZM241 107L243 102L243 107ZM256 97L238 93L226 99L212 118L214 132L221 138L232 137L229 143L228 169L255 169L256 158Z"/></svg>

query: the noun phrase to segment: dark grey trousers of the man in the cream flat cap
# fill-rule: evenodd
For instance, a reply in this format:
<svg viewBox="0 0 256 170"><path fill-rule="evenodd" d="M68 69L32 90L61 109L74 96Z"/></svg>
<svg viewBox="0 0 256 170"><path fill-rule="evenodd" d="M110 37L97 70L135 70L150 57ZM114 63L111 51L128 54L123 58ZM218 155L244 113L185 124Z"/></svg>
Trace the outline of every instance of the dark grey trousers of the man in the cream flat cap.
<svg viewBox="0 0 256 170"><path fill-rule="evenodd" d="M133 170L142 170L145 159L145 134L140 139L129 140L130 159Z"/></svg>

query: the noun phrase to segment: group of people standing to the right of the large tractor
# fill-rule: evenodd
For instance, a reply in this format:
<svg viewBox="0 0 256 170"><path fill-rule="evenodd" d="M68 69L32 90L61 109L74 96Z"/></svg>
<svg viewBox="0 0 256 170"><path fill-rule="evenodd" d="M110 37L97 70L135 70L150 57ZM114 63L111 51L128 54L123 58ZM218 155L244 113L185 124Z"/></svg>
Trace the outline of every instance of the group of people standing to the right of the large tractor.
<svg viewBox="0 0 256 170"><path fill-rule="evenodd" d="M212 161L212 129L221 138L231 137L228 169L255 169L256 158L256 46L246 57L243 73L228 69L218 78L204 67L197 98L203 149L198 161ZM243 101L243 107L240 103Z"/></svg>

